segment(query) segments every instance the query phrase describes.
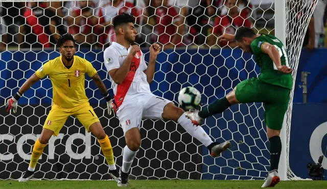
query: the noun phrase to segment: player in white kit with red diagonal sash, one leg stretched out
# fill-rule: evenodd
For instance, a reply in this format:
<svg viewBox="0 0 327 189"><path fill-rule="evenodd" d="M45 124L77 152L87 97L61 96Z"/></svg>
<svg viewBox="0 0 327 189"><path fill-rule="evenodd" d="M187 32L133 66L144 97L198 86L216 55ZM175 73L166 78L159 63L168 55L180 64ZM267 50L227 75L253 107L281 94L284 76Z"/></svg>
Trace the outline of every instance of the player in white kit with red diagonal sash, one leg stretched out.
<svg viewBox="0 0 327 189"><path fill-rule="evenodd" d="M131 15L122 14L113 19L117 42L104 51L105 67L110 75L117 117L123 127L126 146L123 149L123 165L118 186L128 185L128 175L133 159L141 145L139 127L142 118L165 119L178 122L188 133L205 145L213 157L230 146L229 142L213 142L202 127L193 125L182 109L170 100L151 93L158 44L150 47L150 59L147 65L144 55L135 41L136 30Z"/></svg>

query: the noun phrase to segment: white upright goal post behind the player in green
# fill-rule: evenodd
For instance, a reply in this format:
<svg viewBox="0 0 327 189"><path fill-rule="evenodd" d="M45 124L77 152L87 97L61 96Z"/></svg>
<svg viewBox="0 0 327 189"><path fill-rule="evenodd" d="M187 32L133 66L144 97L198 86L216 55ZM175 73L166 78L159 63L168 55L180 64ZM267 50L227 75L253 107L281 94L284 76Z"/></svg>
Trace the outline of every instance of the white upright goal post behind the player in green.
<svg viewBox="0 0 327 189"><path fill-rule="evenodd" d="M281 40L286 47L286 0L274 0L275 6L275 36ZM292 103L292 102L291 102ZM278 175L281 180L287 180L287 123L286 114L281 130L282 152L279 159Z"/></svg>

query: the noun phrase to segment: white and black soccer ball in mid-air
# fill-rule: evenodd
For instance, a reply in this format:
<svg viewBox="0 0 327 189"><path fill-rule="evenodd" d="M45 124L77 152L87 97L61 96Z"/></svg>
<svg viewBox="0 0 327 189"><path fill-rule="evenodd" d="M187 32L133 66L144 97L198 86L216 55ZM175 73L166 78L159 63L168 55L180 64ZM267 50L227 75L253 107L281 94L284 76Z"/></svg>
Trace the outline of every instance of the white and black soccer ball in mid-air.
<svg viewBox="0 0 327 189"><path fill-rule="evenodd" d="M178 95L178 103L185 109L195 109L201 102L201 94L194 87L184 87Z"/></svg>

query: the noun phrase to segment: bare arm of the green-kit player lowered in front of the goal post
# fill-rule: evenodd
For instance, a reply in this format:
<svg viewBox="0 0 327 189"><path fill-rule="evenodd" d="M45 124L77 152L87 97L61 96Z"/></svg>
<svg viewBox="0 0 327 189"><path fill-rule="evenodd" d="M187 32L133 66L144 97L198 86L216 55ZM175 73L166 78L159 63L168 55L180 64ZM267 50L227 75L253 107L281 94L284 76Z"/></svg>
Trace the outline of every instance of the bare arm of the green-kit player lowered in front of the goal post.
<svg viewBox="0 0 327 189"><path fill-rule="evenodd" d="M292 68L282 65L281 57L280 57L279 52L276 49L276 47L274 47L274 45L272 45L268 42L265 42L262 44L261 49L264 53L269 55L273 64L276 65L278 71L281 71L283 73L291 73L292 72Z"/></svg>

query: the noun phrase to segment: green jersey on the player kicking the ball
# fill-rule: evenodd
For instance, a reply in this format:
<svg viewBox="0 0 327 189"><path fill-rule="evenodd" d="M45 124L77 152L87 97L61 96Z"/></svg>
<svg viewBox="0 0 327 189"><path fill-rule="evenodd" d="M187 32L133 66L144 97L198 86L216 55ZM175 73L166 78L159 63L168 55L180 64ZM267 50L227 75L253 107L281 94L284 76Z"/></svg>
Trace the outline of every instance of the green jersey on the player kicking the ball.
<svg viewBox="0 0 327 189"><path fill-rule="evenodd" d="M293 79L291 73L282 73L278 71L269 55L262 51L261 47L265 42L274 45L279 52L282 65L289 66L287 53L283 43L275 36L262 34L255 38L251 43L251 50L255 56L256 64L261 68L261 74L258 79L271 85L292 89Z"/></svg>

